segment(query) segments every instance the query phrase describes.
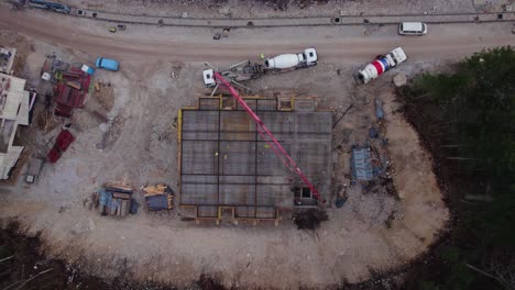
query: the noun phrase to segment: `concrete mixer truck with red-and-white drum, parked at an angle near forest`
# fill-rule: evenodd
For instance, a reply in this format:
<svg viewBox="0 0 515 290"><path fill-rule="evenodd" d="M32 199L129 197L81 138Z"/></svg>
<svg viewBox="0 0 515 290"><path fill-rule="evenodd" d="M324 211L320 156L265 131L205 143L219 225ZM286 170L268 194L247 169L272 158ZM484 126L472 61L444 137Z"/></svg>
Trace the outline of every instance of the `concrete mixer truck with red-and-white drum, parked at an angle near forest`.
<svg viewBox="0 0 515 290"><path fill-rule="evenodd" d="M407 56L404 53L403 48L397 47L390 52L387 55L377 56L374 62L368 64L364 68L360 69L358 71L358 80L360 80L363 83L366 83L370 80L383 75L383 72L387 71L388 69L406 62L406 59Z"/></svg>

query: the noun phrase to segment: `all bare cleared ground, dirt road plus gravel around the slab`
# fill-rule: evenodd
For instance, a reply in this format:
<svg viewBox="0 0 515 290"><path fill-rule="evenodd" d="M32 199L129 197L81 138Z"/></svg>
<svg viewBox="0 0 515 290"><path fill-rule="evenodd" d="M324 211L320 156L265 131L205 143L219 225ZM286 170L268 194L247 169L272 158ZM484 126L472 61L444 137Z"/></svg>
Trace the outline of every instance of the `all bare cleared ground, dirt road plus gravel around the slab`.
<svg viewBox="0 0 515 290"><path fill-rule="evenodd" d="M35 86L44 55L51 52L69 62L91 63L100 54L121 60L121 71L96 74L112 85L113 93L101 97L112 96L112 102L88 99L73 119L77 141L57 164L44 168L36 185L29 187L20 179L14 187L1 187L0 216L21 220L29 233L42 231L48 253L84 263L94 274L112 277L127 265L135 279L174 285L188 285L208 272L219 275L228 286L326 288L343 280L361 281L370 270L390 269L423 254L449 216L431 158L415 131L395 113L390 83L395 72L366 87L355 87L351 74L397 45L410 56L397 71L409 77L486 46L515 44L507 24L435 25L430 35L415 38L396 36L393 26L377 27L366 37L360 36L362 27L309 29L309 38L305 30L242 30L220 43L212 41L210 30L129 26L124 34L109 35L107 26L0 9L1 38L34 47L19 75ZM264 43L264 37L272 41ZM206 92L199 62L228 66L263 52L296 52L307 45L319 51L318 66L265 76L249 86L262 94L295 90L316 96L319 107L333 110L336 118L354 104L332 132L335 185L349 182L344 178L348 152L351 145L368 141L369 127L375 123L373 100L381 98L386 112L383 132L388 138L381 154L392 163L398 197L381 186L368 193L352 187L347 204L328 210L329 221L316 233L296 230L288 219L278 227L195 225L180 221L188 214L182 211L141 210L120 220L85 207L106 181L128 181L136 188L167 182L176 189L174 120L178 109L194 104ZM106 120L96 118L95 111L105 113ZM23 133L33 149L42 149L52 134L35 126Z"/></svg>

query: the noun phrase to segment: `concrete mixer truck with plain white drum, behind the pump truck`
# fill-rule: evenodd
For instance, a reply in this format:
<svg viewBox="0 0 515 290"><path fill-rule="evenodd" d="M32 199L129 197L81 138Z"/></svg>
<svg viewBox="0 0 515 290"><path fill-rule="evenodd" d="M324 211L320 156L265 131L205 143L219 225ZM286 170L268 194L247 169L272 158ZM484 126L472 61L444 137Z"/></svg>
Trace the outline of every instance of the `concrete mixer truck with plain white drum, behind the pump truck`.
<svg viewBox="0 0 515 290"><path fill-rule="evenodd" d="M305 68L317 65L318 56L317 51L313 47L306 48L299 54L282 54L272 58L267 58L265 69L274 72L292 70L297 68Z"/></svg>

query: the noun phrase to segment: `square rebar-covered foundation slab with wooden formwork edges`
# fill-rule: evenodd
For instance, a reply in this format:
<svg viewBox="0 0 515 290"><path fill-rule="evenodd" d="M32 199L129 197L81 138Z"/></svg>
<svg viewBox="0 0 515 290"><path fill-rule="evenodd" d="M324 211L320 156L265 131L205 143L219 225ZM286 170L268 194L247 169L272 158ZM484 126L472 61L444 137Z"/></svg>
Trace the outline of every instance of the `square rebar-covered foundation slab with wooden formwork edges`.
<svg viewBox="0 0 515 290"><path fill-rule="evenodd" d="M281 220L281 210L319 207L331 192L331 112L315 98L244 97L322 192L292 176L232 97L200 98L180 111L180 204L196 219Z"/></svg>

